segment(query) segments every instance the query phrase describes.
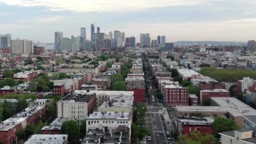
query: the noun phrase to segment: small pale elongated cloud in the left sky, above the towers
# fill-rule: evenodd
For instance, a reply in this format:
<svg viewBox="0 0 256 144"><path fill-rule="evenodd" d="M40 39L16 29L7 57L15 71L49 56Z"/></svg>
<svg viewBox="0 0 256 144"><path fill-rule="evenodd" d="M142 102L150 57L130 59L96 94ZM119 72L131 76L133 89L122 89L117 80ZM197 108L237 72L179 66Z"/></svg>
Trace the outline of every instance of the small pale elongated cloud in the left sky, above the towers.
<svg viewBox="0 0 256 144"><path fill-rule="evenodd" d="M52 22L58 22L63 20L63 16L44 16L44 17L37 17L34 19L29 20L19 20L17 22L19 23L52 23Z"/></svg>

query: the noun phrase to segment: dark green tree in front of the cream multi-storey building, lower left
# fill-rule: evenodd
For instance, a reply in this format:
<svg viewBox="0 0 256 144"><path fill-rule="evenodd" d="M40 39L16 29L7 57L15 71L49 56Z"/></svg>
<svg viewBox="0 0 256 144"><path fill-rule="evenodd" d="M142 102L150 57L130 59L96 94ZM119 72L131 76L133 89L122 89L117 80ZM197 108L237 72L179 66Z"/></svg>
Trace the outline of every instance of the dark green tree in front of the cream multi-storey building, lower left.
<svg viewBox="0 0 256 144"><path fill-rule="evenodd" d="M80 130L77 122L74 120L65 121L61 125L61 134L67 134L70 144L77 144L79 142Z"/></svg>

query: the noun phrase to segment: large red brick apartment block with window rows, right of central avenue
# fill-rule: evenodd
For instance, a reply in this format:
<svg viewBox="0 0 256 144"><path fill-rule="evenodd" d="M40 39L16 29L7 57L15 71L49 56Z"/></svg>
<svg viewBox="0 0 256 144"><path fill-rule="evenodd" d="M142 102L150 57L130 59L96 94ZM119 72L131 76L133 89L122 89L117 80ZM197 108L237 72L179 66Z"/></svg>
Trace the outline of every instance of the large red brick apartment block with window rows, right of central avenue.
<svg viewBox="0 0 256 144"><path fill-rule="evenodd" d="M167 107L188 106L189 88L182 88L179 85L164 85L163 97Z"/></svg>

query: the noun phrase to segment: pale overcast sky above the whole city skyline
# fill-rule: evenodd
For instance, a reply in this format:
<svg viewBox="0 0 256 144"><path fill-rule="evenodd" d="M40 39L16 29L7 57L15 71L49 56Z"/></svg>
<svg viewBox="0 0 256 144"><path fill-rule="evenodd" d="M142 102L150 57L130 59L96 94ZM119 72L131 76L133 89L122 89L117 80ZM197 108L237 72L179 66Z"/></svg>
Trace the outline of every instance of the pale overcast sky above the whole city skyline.
<svg viewBox="0 0 256 144"><path fill-rule="evenodd" d="M0 0L0 33L12 39L54 42L80 35L91 23L106 34L126 37L150 33L179 40L241 41L256 39L256 0Z"/></svg>

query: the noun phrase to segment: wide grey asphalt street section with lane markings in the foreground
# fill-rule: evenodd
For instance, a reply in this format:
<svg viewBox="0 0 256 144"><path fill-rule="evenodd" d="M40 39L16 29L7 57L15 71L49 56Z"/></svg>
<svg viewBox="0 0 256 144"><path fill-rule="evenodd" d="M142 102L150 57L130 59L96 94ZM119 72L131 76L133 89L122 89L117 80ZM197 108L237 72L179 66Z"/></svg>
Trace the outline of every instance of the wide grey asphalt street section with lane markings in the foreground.
<svg viewBox="0 0 256 144"><path fill-rule="evenodd" d="M147 111L150 113L150 115L146 115L147 128L149 128L151 134L151 141L148 141L148 144L168 144L163 121L160 117L161 112L159 112L161 107L148 107ZM152 111L154 115L151 115ZM159 132L162 132L163 135L160 136Z"/></svg>

